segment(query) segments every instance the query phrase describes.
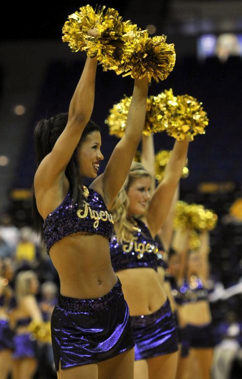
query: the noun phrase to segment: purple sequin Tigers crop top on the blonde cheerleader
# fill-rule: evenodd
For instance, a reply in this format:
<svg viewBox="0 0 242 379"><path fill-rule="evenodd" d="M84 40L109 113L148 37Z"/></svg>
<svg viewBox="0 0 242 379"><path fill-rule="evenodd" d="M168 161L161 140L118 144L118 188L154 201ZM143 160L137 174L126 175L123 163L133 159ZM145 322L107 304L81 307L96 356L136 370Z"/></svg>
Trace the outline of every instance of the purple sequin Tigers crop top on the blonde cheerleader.
<svg viewBox="0 0 242 379"><path fill-rule="evenodd" d="M110 253L115 272L138 267L157 271L158 261L162 260L162 245L151 237L144 222L135 219L135 223L133 241L120 244L116 235L112 237Z"/></svg>

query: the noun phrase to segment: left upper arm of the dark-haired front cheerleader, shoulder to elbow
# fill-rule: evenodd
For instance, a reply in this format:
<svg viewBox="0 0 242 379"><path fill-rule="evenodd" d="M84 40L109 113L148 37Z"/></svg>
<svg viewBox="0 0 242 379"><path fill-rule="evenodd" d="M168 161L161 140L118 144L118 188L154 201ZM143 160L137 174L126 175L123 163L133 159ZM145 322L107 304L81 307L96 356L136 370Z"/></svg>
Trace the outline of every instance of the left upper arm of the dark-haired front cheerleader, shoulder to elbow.
<svg viewBox="0 0 242 379"><path fill-rule="evenodd" d="M87 121L79 117L68 120L52 151L40 163L34 178L34 187L51 187L64 174Z"/></svg>

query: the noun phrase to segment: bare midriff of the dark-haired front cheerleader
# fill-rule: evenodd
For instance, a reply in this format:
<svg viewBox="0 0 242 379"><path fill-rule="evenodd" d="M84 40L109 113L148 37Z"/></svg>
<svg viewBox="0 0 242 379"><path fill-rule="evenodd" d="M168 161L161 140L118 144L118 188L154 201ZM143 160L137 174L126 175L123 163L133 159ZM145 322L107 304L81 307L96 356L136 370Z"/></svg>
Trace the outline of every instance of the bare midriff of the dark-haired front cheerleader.
<svg viewBox="0 0 242 379"><path fill-rule="evenodd" d="M70 234L51 247L50 257L59 274L63 296L98 298L106 295L117 282L109 239L101 235Z"/></svg>

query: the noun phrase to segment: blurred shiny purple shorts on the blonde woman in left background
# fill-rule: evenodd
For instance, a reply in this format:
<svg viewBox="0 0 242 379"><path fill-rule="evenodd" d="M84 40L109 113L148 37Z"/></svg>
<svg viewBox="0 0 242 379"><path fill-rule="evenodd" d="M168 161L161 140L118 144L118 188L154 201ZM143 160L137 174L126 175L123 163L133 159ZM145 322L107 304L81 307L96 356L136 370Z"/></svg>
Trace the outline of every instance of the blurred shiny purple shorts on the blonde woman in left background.
<svg viewBox="0 0 242 379"><path fill-rule="evenodd" d="M13 359L36 358L37 342L31 333L16 334L13 337Z"/></svg>

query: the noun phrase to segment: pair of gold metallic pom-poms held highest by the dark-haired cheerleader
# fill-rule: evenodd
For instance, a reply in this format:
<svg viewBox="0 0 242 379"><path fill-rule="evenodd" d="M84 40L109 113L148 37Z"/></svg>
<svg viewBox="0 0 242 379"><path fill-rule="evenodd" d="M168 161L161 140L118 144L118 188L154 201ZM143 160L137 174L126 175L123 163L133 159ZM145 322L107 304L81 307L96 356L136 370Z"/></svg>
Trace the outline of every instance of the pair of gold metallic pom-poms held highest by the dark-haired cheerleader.
<svg viewBox="0 0 242 379"><path fill-rule="evenodd" d="M88 35L94 28L97 36ZM137 79L147 75L149 82L152 78L158 82L167 78L175 64L174 44L166 43L165 35L149 37L147 30L122 21L113 8L82 6L68 16L62 31L62 40L72 51L85 50L88 56L96 56L104 71L112 69Z"/></svg>

